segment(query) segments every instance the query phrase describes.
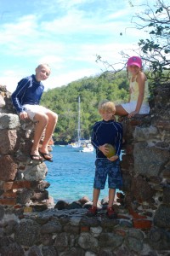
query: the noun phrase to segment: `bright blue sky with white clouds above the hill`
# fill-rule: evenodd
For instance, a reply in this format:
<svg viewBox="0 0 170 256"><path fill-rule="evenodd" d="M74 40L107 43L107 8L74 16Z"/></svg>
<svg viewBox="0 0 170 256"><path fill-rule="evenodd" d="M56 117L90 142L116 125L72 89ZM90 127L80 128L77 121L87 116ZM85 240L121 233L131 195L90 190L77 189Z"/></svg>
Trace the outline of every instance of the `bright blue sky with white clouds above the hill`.
<svg viewBox="0 0 170 256"><path fill-rule="evenodd" d="M43 82L48 90L105 71L96 55L122 63L120 53L134 55L139 38L146 37L131 20L147 1L132 0L133 7L129 2L0 0L0 84L13 92L20 79L48 63L51 74Z"/></svg>

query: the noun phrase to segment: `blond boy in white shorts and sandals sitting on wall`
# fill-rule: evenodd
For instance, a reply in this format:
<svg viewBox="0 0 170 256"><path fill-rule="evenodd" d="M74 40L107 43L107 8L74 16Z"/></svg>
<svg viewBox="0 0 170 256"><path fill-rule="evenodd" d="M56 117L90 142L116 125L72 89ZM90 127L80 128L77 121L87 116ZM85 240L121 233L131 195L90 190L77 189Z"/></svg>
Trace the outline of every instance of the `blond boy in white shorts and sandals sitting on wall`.
<svg viewBox="0 0 170 256"><path fill-rule="evenodd" d="M36 68L36 74L21 79L16 90L12 94L14 108L19 113L20 119L31 119L36 122L34 142L31 148L31 160L53 161L52 155L48 153L48 143L57 124L58 115L48 108L39 105L44 86L42 81L48 79L50 75L48 64L40 64ZM41 150L38 148L45 129L45 136Z"/></svg>

